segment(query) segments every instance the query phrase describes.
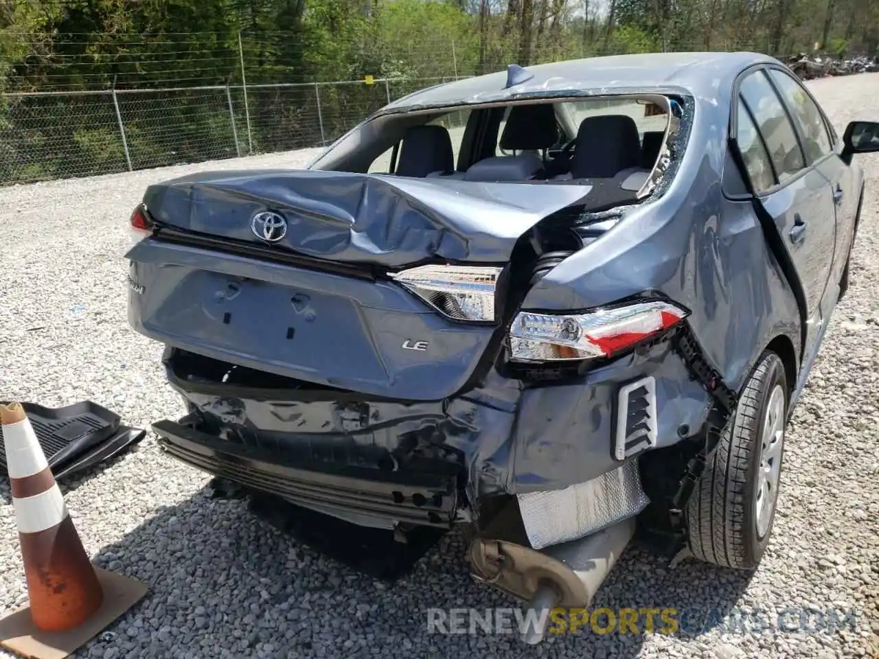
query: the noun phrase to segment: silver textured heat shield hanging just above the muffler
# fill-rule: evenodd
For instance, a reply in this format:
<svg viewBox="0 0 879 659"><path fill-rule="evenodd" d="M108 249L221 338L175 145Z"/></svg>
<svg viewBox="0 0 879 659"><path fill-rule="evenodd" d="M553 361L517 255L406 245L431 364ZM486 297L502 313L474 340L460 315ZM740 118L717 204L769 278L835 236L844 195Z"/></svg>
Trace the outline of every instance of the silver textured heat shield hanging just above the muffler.
<svg viewBox="0 0 879 659"><path fill-rule="evenodd" d="M636 460L565 489L530 492L517 498L534 549L583 538L634 517L650 503Z"/></svg>

